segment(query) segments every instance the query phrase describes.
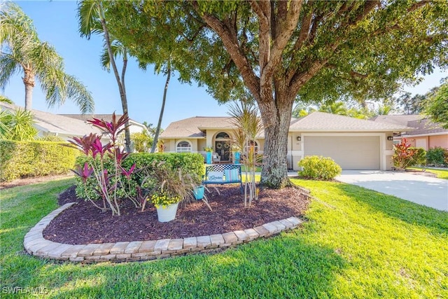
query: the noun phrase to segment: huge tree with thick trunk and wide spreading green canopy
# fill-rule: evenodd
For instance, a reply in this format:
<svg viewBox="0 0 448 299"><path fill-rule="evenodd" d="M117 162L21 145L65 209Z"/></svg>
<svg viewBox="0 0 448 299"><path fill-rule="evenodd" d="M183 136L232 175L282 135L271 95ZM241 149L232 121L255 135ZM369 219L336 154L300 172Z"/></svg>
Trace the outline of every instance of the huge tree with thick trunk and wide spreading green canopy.
<svg viewBox="0 0 448 299"><path fill-rule="evenodd" d="M448 64L446 1L118 1L108 13L139 59L174 53L181 80L220 102L251 93L265 127L262 183L275 188L288 183L296 99L376 100Z"/></svg>

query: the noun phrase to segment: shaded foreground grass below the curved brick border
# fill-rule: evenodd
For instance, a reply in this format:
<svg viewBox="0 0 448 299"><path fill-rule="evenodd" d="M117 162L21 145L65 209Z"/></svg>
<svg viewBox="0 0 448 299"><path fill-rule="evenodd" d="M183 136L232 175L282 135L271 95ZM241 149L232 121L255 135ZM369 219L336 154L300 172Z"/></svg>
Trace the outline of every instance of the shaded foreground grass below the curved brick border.
<svg viewBox="0 0 448 299"><path fill-rule="evenodd" d="M144 263L47 264L34 271L38 281L51 283L48 291L61 298L120 294L127 298L322 298L335 291L335 272L344 265L333 249L288 232L213 255Z"/></svg>

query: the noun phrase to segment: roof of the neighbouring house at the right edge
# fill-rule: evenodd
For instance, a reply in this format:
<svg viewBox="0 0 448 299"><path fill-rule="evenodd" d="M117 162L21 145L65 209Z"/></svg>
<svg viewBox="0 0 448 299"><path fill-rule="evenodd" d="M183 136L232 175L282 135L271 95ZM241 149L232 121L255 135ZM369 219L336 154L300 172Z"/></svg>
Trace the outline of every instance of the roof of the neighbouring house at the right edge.
<svg viewBox="0 0 448 299"><path fill-rule="evenodd" d="M412 127L413 130L408 130L405 136L431 135L440 133L448 134L448 129L444 129L440 123L433 123L423 115L376 116L374 121L381 123L400 123L406 125L407 127Z"/></svg>

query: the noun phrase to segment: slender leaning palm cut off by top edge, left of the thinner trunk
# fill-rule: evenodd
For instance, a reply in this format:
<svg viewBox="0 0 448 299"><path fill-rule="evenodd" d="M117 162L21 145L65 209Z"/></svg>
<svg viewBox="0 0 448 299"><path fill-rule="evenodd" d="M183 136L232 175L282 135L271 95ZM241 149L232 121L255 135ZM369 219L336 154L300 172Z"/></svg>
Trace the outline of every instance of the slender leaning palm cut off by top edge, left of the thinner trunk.
<svg viewBox="0 0 448 299"><path fill-rule="evenodd" d="M104 50L107 53L103 53L101 56L102 66L105 69L110 69L112 65L113 74L115 75L118 90L120 91L121 106L123 108L123 114L129 115L127 111L127 96L125 88L125 74L127 67L127 48L123 46L120 41L116 40L109 34L108 25L106 22L105 11L103 8L103 1L101 0L83 0L78 3L78 22L79 32L81 36L90 39L92 34L102 34L104 37ZM123 68L121 70L121 76L118 73L118 67L116 64L116 57L121 55L123 57ZM125 146L126 151L129 153L131 150L131 134L129 130L129 120L125 123Z"/></svg>

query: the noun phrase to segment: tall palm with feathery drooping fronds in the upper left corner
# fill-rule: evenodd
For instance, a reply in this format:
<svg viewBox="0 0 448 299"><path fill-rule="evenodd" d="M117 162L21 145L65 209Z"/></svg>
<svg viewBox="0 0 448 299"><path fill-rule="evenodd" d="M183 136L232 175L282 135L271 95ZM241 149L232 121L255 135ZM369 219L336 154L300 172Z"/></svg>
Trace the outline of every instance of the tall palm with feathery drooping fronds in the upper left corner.
<svg viewBox="0 0 448 299"><path fill-rule="evenodd" d="M0 8L0 88L22 73L25 110L31 110L36 79L46 92L49 106L64 104L68 97L82 113L93 112L92 95L75 77L65 74L64 63L55 48L38 39L32 20L13 2Z"/></svg>

